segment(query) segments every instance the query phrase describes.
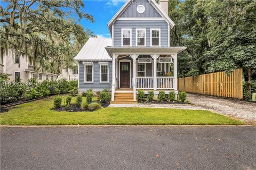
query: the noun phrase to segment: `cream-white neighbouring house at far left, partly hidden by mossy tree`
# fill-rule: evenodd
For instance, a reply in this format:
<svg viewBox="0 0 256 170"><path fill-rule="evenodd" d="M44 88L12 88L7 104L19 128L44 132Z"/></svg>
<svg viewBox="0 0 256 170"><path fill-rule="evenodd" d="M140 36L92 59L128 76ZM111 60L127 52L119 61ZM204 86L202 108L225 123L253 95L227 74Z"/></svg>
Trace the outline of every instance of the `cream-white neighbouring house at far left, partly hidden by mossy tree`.
<svg viewBox="0 0 256 170"><path fill-rule="evenodd" d="M43 80L57 80L58 74L38 71L35 72L33 64L31 64L28 58L24 55L18 55L14 53L14 50L9 49L8 53L4 52L1 60L0 72L10 74L9 82L14 81L15 78L21 82L27 82L29 79L36 78L37 82Z"/></svg>

